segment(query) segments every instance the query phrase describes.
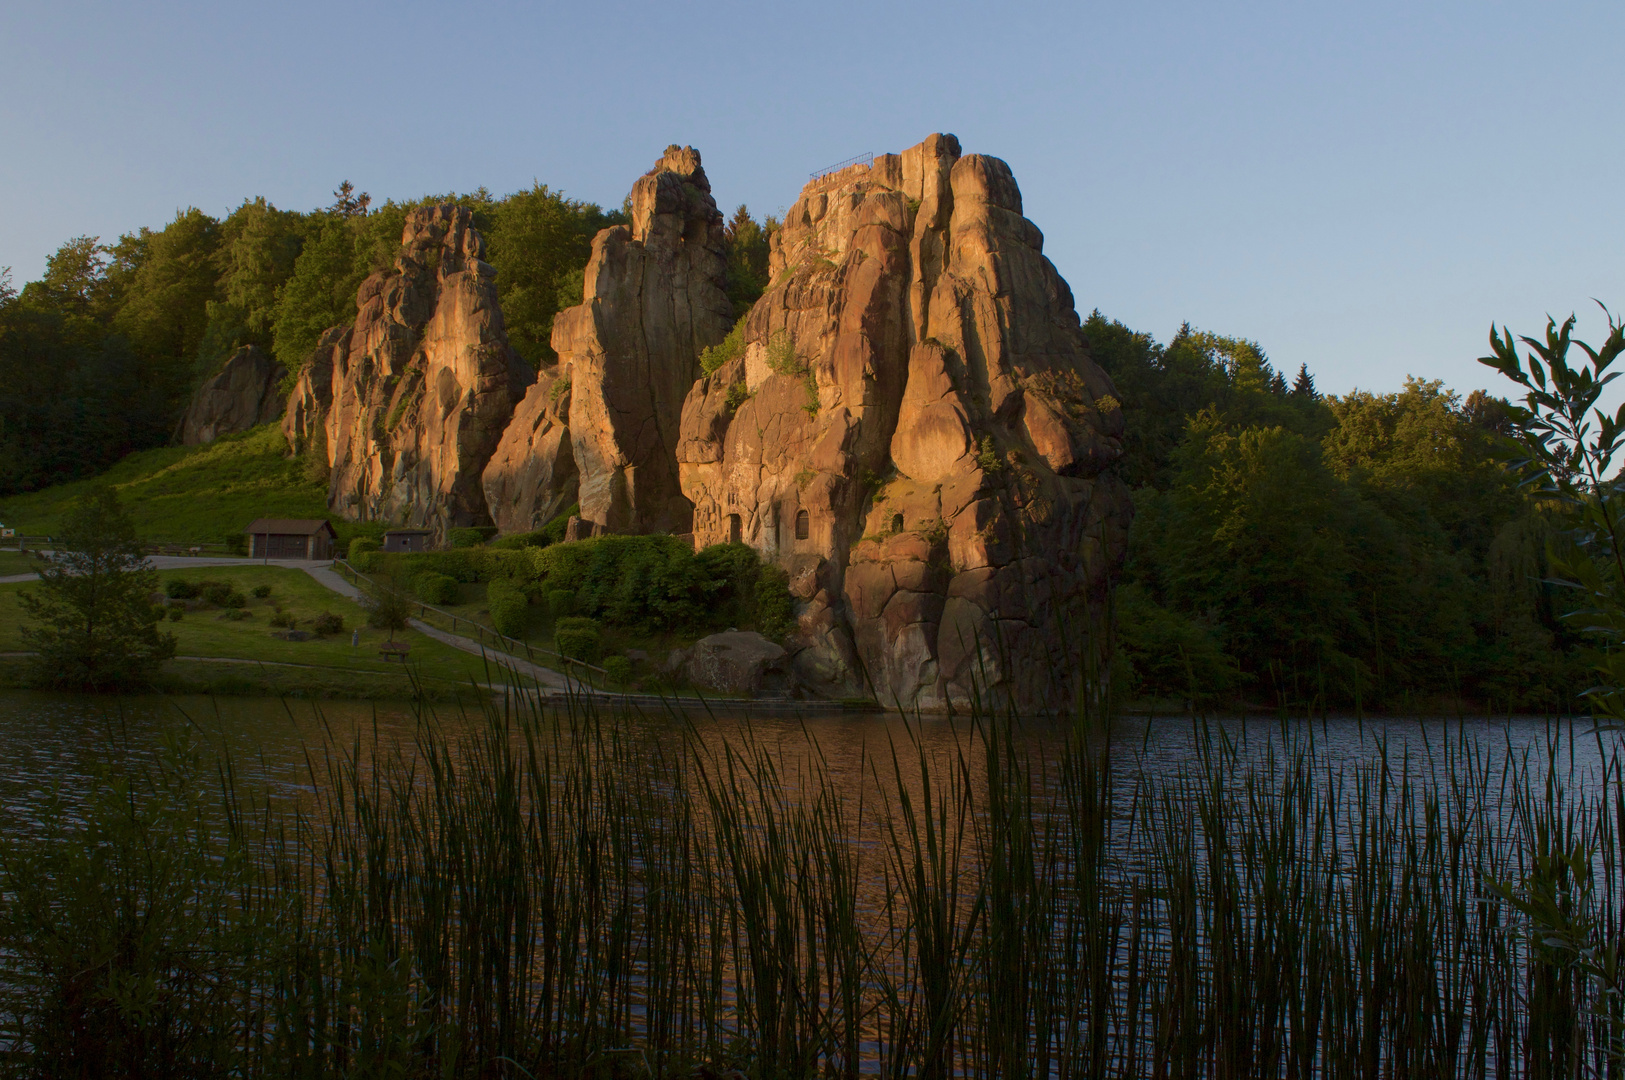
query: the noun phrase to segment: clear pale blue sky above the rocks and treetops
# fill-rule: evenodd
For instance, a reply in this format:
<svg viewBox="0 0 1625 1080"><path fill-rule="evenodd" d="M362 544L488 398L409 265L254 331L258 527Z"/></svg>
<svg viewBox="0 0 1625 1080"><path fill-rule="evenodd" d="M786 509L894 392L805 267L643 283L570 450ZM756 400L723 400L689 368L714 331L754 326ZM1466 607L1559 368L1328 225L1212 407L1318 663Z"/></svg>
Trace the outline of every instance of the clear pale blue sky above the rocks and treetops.
<svg viewBox="0 0 1625 1080"><path fill-rule="evenodd" d="M673 141L725 210L777 213L952 132L1009 161L1084 313L1253 338L1329 391L1466 391L1492 320L1625 309L1622 31L1618 3L1484 0L16 0L0 266L343 179L613 206Z"/></svg>

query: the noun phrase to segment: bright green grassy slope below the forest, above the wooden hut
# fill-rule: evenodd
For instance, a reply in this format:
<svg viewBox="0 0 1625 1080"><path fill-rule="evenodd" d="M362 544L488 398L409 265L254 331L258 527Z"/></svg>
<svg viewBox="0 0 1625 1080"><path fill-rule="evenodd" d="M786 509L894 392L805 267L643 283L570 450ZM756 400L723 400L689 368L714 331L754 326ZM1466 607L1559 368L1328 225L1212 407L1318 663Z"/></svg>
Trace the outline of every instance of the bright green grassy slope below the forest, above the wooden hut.
<svg viewBox="0 0 1625 1080"><path fill-rule="evenodd" d="M143 450L94 479L0 499L0 521L28 536L50 536L73 500L98 484L112 484L141 536L159 542L240 538L254 518L328 516L327 484L286 453L276 424L205 447ZM349 525L343 534L353 531Z"/></svg>

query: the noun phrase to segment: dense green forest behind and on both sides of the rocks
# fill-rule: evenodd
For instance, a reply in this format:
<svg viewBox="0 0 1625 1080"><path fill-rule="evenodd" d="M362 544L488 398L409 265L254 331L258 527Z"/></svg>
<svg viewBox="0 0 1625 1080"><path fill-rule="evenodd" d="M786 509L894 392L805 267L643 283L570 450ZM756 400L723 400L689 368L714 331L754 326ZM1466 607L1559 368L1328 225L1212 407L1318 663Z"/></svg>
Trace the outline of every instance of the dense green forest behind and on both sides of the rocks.
<svg viewBox="0 0 1625 1080"><path fill-rule="evenodd" d="M552 362L552 317L626 208L543 184L374 205L346 182L312 211L185 210L114 242L70 239L20 289L0 276L0 500L169 443L242 344L291 380L432 201L474 210L512 344ZM726 224L741 312L767 284L775 226L744 206ZM1560 710L1586 685L1563 596L1542 583L1555 512L1506 464L1506 400L1415 378L1326 396L1253 341L1183 326L1159 343L1100 312L1084 335L1128 422L1136 521L1115 614L1131 697Z"/></svg>

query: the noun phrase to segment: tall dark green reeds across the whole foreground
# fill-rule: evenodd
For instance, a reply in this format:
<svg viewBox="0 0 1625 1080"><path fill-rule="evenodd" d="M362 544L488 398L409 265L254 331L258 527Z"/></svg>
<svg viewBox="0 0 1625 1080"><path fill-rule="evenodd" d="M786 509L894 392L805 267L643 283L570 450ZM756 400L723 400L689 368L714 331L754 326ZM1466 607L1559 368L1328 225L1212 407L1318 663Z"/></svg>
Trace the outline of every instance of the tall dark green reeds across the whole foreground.
<svg viewBox="0 0 1625 1080"><path fill-rule="evenodd" d="M1154 771L977 710L837 768L514 693L294 793L114 742L0 825L0 1070L1618 1077L1618 747L1318 723Z"/></svg>

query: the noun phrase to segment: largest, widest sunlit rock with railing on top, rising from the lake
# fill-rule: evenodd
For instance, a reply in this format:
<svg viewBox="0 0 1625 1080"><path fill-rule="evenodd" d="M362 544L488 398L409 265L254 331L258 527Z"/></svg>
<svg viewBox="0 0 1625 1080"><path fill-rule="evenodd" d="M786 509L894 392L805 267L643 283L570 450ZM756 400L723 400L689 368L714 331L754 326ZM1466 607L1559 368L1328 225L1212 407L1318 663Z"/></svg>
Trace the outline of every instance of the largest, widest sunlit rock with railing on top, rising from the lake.
<svg viewBox="0 0 1625 1080"><path fill-rule="evenodd" d="M696 542L790 572L793 663L832 697L1061 706L1105 658L1123 414L1020 211L951 135L812 180L743 356L682 404Z"/></svg>

